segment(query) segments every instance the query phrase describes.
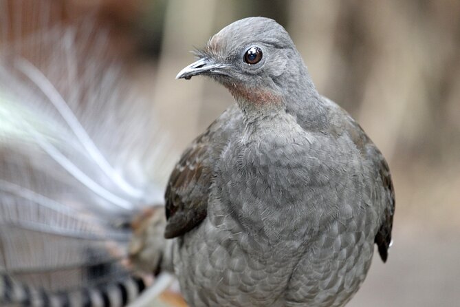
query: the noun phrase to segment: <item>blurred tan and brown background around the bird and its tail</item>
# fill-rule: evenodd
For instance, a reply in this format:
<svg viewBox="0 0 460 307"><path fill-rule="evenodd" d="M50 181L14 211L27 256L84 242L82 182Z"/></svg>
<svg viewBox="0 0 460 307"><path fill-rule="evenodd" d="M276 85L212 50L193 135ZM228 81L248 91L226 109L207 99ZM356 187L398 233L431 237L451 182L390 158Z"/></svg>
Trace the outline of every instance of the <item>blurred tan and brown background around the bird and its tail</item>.
<svg viewBox="0 0 460 307"><path fill-rule="evenodd" d="M107 31L107 56L122 59L129 86L155 105L174 140L172 160L232 104L206 78L175 81L193 61L189 51L237 19L275 19L318 92L358 120L393 174L388 262L375 257L348 306L459 306L459 1L0 1L0 10L23 16L0 23L3 30L14 23L20 34L33 32L47 2L52 23L90 18ZM3 32L0 43L8 44Z"/></svg>

